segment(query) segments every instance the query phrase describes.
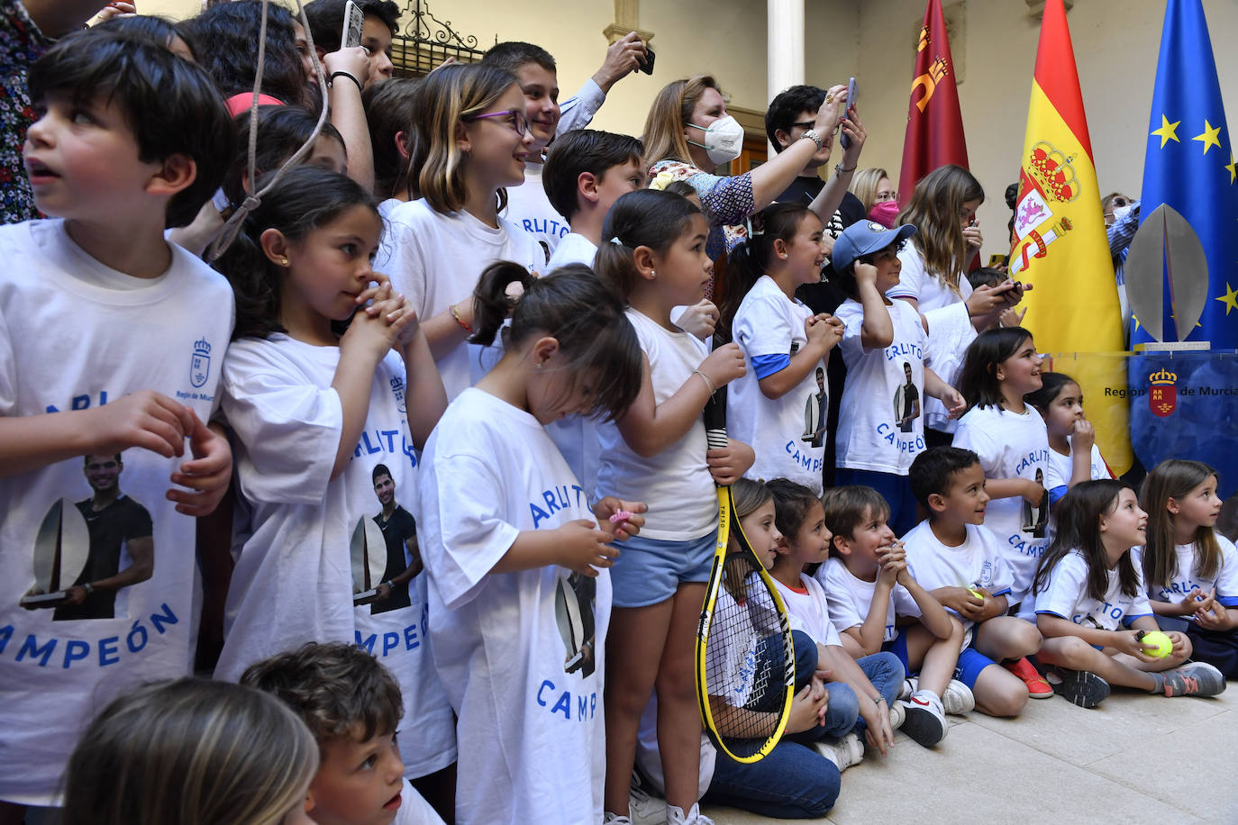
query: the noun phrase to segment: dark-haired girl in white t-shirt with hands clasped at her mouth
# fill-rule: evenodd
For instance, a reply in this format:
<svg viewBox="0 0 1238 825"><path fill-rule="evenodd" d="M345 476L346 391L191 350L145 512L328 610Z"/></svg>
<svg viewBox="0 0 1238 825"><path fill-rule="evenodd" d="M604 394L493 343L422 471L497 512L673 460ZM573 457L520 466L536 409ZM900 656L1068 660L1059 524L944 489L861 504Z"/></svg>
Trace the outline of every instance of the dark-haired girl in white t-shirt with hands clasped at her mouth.
<svg viewBox="0 0 1238 825"><path fill-rule="evenodd" d="M428 658L425 579L410 581L406 605L385 604L395 583L374 470L417 512L416 450L446 400L416 315L370 268L381 231L359 184L301 166L219 259L236 293L223 411L250 534L215 677L307 641L363 644L400 680L405 764L418 778L456 761L451 706Z"/></svg>

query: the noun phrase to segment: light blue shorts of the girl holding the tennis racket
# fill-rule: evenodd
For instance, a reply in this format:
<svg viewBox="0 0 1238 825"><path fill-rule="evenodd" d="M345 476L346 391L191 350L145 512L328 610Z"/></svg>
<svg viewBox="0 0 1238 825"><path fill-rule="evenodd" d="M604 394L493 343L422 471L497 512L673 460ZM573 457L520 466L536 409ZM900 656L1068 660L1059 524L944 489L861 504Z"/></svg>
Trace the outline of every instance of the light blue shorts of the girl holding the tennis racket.
<svg viewBox="0 0 1238 825"><path fill-rule="evenodd" d="M633 536L619 542L610 568L615 607L647 607L666 601L681 584L706 583L713 566L717 531L687 542Z"/></svg>

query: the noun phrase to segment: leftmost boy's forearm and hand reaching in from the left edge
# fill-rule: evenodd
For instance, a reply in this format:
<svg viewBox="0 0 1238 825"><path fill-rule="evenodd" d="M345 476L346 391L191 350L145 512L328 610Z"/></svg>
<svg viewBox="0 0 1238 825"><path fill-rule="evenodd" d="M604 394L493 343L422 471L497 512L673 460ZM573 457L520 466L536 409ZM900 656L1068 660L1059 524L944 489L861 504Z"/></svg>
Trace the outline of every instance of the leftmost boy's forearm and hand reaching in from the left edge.
<svg viewBox="0 0 1238 825"><path fill-rule="evenodd" d="M0 476L131 447L163 458L184 455L194 421L188 407L150 390L92 409L0 417Z"/></svg>

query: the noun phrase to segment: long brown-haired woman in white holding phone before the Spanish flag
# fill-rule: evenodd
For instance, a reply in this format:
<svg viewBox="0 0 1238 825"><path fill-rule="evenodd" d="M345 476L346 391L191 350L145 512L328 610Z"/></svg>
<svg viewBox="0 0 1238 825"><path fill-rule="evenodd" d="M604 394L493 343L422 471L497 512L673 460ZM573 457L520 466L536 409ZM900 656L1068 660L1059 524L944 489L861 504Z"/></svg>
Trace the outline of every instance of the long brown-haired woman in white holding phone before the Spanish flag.
<svg viewBox="0 0 1238 825"><path fill-rule="evenodd" d="M895 225L911 224L916 234L899 252L903 270L888 298L901 298L927 320L933 371L951 386L958 377L963 353L978 331L995 327L1003 310L1023 299L1024 287L1005 281L972 289L966 273L983 237L976 210L984 189L961 166L942 166L925 176L911 193ZM1026 312L1026 310L1025 310ZM1013 324L1023 318L1016 313ZM968 400L971 401L971 400ZM948 445L956 422L936 398L925 400L925 443Z"/></svg>

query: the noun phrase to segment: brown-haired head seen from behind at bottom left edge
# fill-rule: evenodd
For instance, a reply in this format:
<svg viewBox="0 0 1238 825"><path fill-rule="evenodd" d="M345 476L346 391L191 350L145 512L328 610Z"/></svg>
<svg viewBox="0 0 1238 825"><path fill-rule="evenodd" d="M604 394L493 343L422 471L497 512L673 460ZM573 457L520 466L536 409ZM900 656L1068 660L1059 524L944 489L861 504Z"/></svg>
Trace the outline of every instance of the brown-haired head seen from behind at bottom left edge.
<svg viewBox="0 0 1238 825"><path fill-rule="evenodd" d="M310 825L318 746L284 703L228 682L145 685L108 705L64 777L74 825Z"/></svg>

